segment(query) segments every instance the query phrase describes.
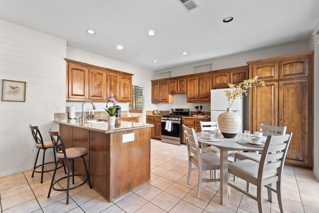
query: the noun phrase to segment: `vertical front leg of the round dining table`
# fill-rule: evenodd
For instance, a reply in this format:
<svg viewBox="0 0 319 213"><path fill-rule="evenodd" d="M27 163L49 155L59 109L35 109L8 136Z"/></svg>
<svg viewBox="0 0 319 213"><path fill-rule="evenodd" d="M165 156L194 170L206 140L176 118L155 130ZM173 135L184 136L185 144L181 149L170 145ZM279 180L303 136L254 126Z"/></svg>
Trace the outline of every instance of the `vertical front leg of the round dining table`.
<svg viewBox="0 0 319 213"><path fill-rule="evenodd" d="M220 150L220 203L227 205L228 199L228 150Z"/></svg>

